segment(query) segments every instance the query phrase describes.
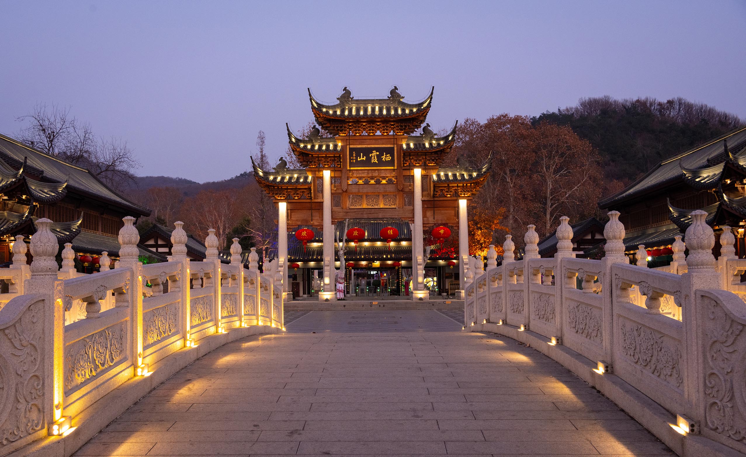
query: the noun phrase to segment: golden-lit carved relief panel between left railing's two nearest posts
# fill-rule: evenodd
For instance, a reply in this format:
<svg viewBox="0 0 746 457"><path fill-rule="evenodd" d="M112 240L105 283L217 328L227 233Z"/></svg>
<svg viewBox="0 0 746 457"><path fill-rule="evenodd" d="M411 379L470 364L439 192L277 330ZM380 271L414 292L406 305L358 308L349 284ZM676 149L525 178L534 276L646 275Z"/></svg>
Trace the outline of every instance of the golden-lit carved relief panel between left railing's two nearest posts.
<svg viewBox="0 0 746 457"><path fill-rule="evenodd" d="M127 326L116 324L65 347L65 393L107 371L127 355Z"/></svg>

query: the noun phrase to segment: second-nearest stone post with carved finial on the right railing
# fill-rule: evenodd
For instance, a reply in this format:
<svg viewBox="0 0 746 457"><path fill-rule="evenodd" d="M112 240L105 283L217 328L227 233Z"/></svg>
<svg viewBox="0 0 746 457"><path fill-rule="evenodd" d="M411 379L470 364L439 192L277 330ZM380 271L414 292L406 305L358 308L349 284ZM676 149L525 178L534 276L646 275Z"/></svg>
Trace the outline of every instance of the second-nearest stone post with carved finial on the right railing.
<svg viewBox="0 0 746 457"><path fill-rule="evenodd" d="M627 231L624 230L624 224L619 221L618 211L609 211L609 221L606 222L604 227L604 238L606 239L606 245L604 250L606 254L601 259L601 295L604 297L604 309L601 311L603 316L603 329L604 339L604 355L606 360L611 361L613 359L613 330L614 330L614 309L613 309L613 298L614 291L613 278L612 278L612 265L614 264L629 264L630 259L624 255L624 236L627 235Z"/></svg>

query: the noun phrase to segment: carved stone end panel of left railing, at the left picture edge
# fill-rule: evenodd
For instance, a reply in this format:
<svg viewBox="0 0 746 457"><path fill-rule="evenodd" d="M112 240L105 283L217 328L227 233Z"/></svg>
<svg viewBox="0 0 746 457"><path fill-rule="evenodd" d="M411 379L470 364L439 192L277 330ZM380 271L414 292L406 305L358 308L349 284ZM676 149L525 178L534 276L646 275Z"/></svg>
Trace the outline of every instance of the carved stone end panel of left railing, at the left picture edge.
<svg viewBox="0 0 746 457"><path fill-rule="evenodd" d="M29 306L0 332L0 453L3 446L46 426L42 304Z"/></svg>

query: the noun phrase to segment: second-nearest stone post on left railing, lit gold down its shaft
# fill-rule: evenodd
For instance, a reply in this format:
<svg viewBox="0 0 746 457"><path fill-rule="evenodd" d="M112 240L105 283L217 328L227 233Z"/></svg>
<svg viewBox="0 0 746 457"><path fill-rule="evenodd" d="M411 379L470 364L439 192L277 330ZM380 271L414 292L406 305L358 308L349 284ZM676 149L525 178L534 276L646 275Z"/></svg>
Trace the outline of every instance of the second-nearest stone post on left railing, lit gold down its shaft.
<svg viewBox="0 0 746 457"><path fill-rule="evenodd" d="M129 305L131 312L131 332L133 341L132 348L135 355L135 368L142 365L142 263L138 260L140 250L137 243L140 242L140 233L134 226L135 218L128 215L122 218L124 227L119 229L119 262L115 268L129 268L130 277ZM125 287L126 292L127 287Z"/></svg>

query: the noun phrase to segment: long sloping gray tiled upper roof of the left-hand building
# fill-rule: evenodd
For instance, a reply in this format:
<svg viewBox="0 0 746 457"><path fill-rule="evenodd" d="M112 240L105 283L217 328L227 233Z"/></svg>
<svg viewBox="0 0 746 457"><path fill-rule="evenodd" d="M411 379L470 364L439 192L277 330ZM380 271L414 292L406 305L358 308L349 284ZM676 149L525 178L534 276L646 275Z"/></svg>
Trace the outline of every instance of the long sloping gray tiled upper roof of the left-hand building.
<svg viewBox="0 0 746 457"><path fill-rule="evenodd" d="M118 192L98 180L98 177L95 177L87 169L29 148L15 139L0 134L0 157L2 156L10 157L10 159L20 163L23 162L24 157L28 157L28 166L43 171L42 179L45 181L63 183L69 179L68 190L77 190L94 198L98 197L119 205L119 207L130 211L131 215L135 217L150 214L149 209L140 207L140 205L122 197Z"/></svg>

